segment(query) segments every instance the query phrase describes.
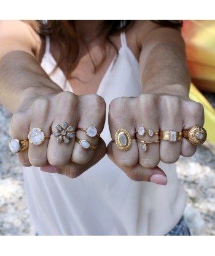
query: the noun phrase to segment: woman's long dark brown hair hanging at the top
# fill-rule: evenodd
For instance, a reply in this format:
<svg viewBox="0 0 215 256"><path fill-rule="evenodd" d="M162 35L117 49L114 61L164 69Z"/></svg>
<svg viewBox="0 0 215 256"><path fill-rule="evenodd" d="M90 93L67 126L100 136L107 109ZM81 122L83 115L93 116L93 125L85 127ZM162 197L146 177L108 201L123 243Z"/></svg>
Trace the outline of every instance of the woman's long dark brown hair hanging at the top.
<svg viewBox="0 0 215 256"><path fill-rule="evenodd" d="M87 47L87 44L80 38L76 31L74 20L25 20L25 22L28 22L39 35L50 35L58 43L60 46L60 59L57 62L57 67L66 60L66 76L69 78L72 63L74 63L79 53L79 41L82 41ZM165 27L179 28L182 26L182 22L179 20L152 20L152 22ZM104 20L98 28L97 36L102 35L104 38L103 43L108 41L115 47L114 43L111 42L110 36L126 31L131 24L132 20ZM117 47L115 49L117 51ZM105 57L106 54L104 52L103 60ZM103 63L103 60L97 66L93 63L95 70Z"/></svg>

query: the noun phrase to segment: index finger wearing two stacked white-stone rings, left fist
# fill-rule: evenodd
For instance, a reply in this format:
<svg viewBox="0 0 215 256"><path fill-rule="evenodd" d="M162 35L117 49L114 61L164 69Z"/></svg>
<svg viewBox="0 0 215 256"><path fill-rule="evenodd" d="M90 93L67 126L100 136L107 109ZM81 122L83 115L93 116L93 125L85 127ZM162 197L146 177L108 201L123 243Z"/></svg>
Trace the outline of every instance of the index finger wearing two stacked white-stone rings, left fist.
<svg viewBox="0 0 215 256"><path fill-rule="evenodd" d="M105 114L106 104L102 97L96 94L79 96L79 122L77 125L76 143L74 144L71 157L72 162L85 164L98 152L95 149L84 147L88 145L90 147L97 146L100 136L95 134L100 134L103 131ZM89 134L90 130L95 131L95 134ZM90 137L88 134L95 136ZM83 140L85 144L82 144L81 141Z"/></svg>

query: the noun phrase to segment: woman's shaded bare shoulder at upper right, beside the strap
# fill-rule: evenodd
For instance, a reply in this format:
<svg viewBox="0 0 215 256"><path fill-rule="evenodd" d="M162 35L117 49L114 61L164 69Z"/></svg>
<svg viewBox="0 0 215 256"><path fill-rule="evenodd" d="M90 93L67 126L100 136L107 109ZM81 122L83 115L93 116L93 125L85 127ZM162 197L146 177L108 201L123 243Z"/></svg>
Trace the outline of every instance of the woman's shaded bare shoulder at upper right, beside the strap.
<svg viewBox="0 0 215 256"><path fill-rule="evenodd" d="M135 20L127 30L127 43L131 51L139 59L143 47L152 47L159 41L177 41L181 32L174 28L162 27L151 20Z"/></svg>

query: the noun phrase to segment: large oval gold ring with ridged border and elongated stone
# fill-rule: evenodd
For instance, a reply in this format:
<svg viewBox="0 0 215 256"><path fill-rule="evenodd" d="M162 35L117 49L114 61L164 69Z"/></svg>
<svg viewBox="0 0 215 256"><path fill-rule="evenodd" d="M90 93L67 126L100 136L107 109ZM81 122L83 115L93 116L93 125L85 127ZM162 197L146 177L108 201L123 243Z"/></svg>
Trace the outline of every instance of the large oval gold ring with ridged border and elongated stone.
<svg viewBox="0 0 215 256"><path fill-rule="evenodd" d="M131 136L125 129L119 129L115 133L115 140L112 140L112 142L117 144L120 151L128 151L131 147L131 139L135 139L135 136Z"/></svg>

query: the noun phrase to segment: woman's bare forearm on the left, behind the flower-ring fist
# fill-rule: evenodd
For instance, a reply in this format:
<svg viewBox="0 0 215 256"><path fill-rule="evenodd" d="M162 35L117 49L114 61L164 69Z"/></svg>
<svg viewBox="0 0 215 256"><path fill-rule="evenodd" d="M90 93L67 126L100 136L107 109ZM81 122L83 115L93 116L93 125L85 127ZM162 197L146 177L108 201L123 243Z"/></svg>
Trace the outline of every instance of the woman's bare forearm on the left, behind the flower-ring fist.
<svg viewBox="0 0 215 256"><path fill-rule="evenodd" d="M27 52L10 52L0 67L0 102L11 112L25 100L62 91Z"/></svg>

